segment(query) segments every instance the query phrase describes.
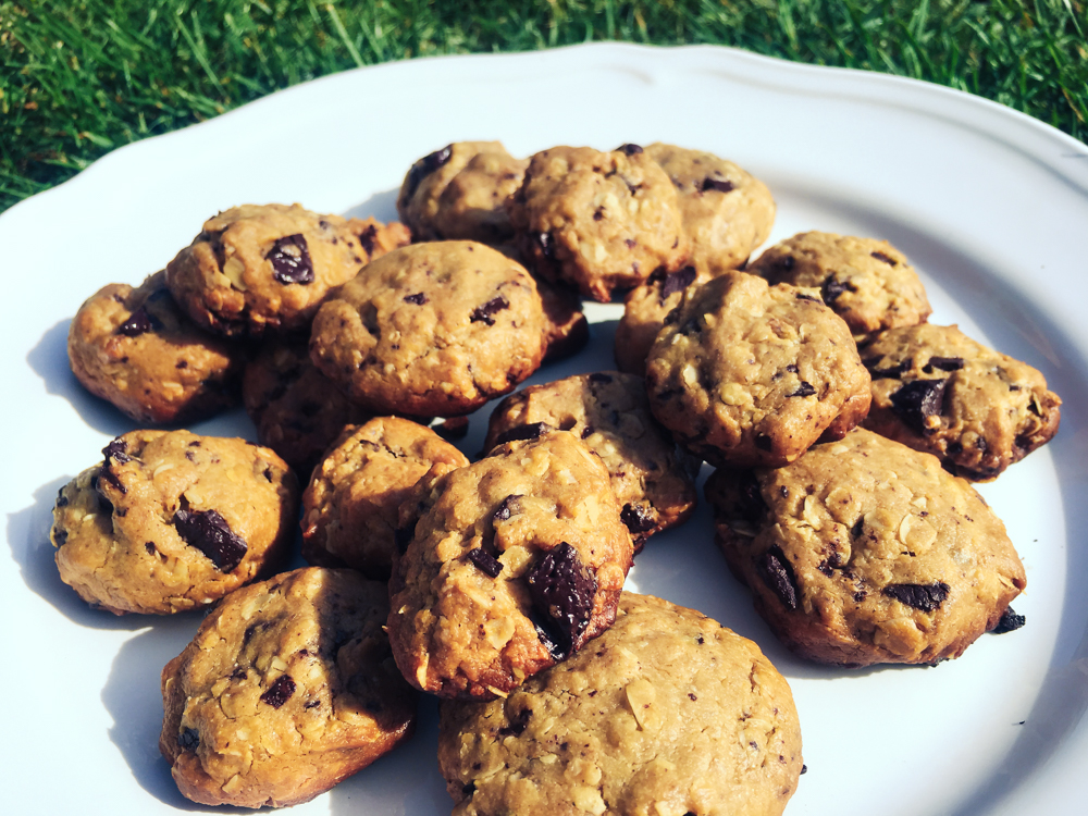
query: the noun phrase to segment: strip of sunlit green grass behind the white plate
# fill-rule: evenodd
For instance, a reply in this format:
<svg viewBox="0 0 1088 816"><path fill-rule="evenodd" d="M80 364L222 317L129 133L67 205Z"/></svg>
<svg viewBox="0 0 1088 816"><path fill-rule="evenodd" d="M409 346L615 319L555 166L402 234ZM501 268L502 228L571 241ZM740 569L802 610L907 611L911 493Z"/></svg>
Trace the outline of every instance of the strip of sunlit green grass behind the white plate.
<svg viewBox="0 0 1088 816"><path fill-rule="evenodd" d="M316 76L588 40L928 79L1084 140L1086 37L1086 0L0 0L0 211L114 147Z"/></svg>

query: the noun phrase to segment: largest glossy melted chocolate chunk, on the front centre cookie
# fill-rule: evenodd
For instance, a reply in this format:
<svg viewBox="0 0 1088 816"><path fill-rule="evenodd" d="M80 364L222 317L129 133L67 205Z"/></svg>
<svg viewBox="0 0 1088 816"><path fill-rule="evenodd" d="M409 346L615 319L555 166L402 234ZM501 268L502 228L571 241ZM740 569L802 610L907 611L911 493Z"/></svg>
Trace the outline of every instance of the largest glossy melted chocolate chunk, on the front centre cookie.
<svg viewBox="0 0 1088 816"><path fill-rule="evenodd" d="M571 654L590 625L596 578L567 542L548 551L526 577L544 628L561 654Z"/></svg>

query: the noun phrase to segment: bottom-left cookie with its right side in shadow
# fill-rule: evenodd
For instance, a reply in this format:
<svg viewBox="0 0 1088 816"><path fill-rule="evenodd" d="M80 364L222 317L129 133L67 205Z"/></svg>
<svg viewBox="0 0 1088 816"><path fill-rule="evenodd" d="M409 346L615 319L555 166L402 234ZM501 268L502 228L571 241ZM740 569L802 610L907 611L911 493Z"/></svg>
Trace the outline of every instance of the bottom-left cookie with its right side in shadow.
<svg viewBox="0 0 1088 816"><path fill-rule="evenodd" d="M223 599L162 670L159 750L207 805L307 802L407 740L416 693L382 631L385 585L295 570Z"/></svg>

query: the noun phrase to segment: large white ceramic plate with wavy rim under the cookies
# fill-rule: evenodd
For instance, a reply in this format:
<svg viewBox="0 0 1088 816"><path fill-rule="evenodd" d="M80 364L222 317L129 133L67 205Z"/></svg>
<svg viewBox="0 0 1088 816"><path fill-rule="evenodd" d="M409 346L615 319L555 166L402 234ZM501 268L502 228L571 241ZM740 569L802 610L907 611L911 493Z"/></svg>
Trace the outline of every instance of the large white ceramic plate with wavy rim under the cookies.
<svg viewBox="0 0 1088 816"><path fill-rule="evenodd" d="M1043 371L1065 400L1056 442L981 487L1027 565L1018 632L986 635L936 669L802 663L751 611L705 507L648 544L630 585L755 639L790 679L808 774L788 813L1084 813L1088 148L937 86L721 48L618 45L338 74L125 147L0 218L4 812L203 809L180 796L157 749L159 671L198 617L91 611L53 568L57 490L132 428L69 372L71 316L99 286L161 268L236 203L394 218L415 159L478 138L523 156L654 140L712 150L770 186L772 240L807 228L888 238L923 271L934 322ZM591 349L535 382L611 367L619 307L591 311ZM483 424L473 421L466 450ZM240 411L194 430L254 435ZM295 812L448 813L434 712L424 704L408 746Z"/></svg>

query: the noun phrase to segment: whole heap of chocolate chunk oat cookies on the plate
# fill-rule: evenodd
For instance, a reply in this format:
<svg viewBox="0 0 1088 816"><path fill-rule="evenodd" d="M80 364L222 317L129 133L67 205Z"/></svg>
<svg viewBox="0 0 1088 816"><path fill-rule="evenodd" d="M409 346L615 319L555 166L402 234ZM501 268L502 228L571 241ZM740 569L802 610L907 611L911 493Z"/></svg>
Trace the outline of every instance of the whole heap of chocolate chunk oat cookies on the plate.
<svg viewBox="0 0 1088 816"><path fill-rule="evenodd" d="M798 654L932 665L1024 623L968 480L1053 436L1061 400L928 324L887 242L811 232L749 263L766 185L660 144L457 143L397 208L226 210L72 321L76 376L136 422L240 399L260 442L135 430L54 509L91 605L209 608L162 672L189 799L307 801L407 739L421 691L456 814L780 814L804 770L786 680L623 590L703 461L726 561ZM515 391L589 341L581 298L621 295L618 371ZM504 396L470 460L452 441ZM282 572L299 519L311 566Z"/></svg>

